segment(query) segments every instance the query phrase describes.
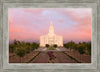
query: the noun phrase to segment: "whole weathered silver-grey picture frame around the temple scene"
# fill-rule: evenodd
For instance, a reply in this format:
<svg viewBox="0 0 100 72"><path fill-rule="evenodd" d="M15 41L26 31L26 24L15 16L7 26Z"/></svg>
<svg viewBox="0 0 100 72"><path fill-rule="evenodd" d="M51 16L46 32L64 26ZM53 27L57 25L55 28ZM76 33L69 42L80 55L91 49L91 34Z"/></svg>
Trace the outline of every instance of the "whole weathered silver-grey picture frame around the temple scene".
<svg viewBox="0 0 100 72"><path fill-rule="evenodd" d="M6 1L6 0L5 0ZM8 63L8 9L9 8L92 8L92 63L91 64L9 64ZM3 11L2 11L3 10ZM1 61L2 71L82 71L98 72L98 23L97 23L97 4L96 3L3 3L1 10ZM13 72L13 71L12 71Z"/></svg>

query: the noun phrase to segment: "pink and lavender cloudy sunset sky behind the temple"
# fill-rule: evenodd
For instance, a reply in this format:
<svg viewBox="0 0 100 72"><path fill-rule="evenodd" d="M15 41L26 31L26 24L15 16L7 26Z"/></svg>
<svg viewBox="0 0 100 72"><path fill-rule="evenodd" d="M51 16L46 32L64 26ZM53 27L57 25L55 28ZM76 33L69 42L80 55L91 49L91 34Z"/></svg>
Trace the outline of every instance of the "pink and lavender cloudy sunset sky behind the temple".
<svg viewBox="0 0 100 72"><path fill-rule="evenodd" d="M55 34L63 36L64 43L91 41L91 13L90 8L9 9L9 42L39 43L49 31L51 16Z"/></svg>

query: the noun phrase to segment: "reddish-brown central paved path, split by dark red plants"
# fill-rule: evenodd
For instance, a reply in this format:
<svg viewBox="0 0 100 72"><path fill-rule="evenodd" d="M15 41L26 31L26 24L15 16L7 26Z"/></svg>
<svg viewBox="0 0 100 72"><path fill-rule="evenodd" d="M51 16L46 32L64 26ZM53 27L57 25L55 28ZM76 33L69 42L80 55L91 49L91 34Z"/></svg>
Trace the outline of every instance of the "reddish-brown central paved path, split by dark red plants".
<svg viewBox="0 0 100 72"><path fill-rule="evenodd" d="M62 52L53 52L53 54L56 57L53 61L54 63L76 63L76 61L69 58ZM48 62L49 62L49 56L47 52L40 53L34 60L31 61L31 63L48 63Z"/></svg>

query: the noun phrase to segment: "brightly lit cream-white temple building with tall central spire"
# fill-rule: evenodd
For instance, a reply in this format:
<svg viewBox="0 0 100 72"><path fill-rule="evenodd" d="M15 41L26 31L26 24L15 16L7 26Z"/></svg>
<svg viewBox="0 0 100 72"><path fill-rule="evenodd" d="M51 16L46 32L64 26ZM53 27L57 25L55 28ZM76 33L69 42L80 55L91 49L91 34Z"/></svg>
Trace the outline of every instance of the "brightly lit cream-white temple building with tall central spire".
<svg viewBox="0 0 100 72"><path fill-rule="evenodd" d="M52 20L49 27L49 33L47 35L40 36L40 47L45 47L46 44L50 46L57 44L58 47L63 47L63 37L54 33Z"/></svg>

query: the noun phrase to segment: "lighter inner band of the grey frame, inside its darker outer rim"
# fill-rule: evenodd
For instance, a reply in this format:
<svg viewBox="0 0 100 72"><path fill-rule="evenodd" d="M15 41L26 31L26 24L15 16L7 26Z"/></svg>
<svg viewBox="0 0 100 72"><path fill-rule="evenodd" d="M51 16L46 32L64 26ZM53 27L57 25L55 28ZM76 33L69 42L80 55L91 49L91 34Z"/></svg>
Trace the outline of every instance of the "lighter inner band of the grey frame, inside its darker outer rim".
<svg viewBox="0 0 100 72"><path fill-rule="evenodd" d="M79 6L81 5L81 6ZM92 9L92 62L91 63L30 63L30 64L21 64L21 63L9 63L9 53L8 53L8 47L9 47L9 33L8 33L8 9L9 8L91 8ZM13 3L13 4L4 4L3 6L3 68L4 69L95 69L97 67L96 57L97 54L97 30L96 30L96 14L94 14L94 11L96 10L95 4L67 4L67 3Z"/></svg>

